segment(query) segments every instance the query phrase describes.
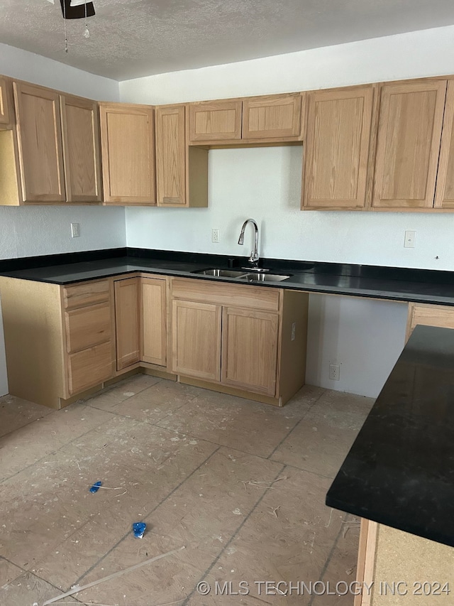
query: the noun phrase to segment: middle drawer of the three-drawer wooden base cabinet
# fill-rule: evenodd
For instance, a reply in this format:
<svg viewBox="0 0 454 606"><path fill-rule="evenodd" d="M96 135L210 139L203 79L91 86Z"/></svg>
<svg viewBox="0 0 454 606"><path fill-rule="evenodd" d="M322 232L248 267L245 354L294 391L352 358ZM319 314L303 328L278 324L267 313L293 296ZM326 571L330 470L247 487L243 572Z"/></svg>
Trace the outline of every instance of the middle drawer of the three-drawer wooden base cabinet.
<svg viewBox="0 0 454 606"><path fill-rule="evenodd" d="M65 313L67 352L74 353L111 340L111 306L99 303Z"/></svg>

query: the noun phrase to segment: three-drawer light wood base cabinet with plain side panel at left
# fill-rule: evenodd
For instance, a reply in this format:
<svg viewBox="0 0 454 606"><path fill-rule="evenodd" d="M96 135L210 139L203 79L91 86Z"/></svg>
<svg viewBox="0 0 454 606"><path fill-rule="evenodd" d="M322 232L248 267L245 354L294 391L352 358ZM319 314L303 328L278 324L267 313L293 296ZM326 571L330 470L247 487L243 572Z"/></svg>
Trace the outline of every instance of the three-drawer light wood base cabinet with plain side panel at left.
<svg viewBox="0 0 454 606"><path fill-rule="evenodd" d="M69 286L0 277L9 391L61 408L115 374L111 281Z"/></svg>

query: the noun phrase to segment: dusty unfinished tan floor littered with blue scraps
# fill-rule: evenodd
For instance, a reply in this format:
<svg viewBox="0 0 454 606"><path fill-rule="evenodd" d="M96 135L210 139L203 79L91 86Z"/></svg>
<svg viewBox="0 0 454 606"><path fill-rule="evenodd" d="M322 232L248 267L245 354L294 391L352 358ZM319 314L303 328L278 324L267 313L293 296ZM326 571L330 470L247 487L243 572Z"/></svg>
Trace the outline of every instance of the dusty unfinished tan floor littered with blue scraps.
<svg viewBox="0 0 454 606"><path fill-rule="evenodd" d="M183 546L53 603L353 605L323 592L355 579L358 521L324 499L372 403L304 386L275 408L145 374L61 411L0 398L1 606Z"/></svg>

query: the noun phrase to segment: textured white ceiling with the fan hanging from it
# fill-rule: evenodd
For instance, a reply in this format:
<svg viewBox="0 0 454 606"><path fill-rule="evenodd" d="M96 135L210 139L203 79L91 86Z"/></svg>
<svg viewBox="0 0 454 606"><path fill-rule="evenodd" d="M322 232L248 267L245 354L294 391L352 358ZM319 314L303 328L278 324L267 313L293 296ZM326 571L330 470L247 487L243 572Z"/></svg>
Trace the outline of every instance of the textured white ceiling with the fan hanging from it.
<svg viewBox="0 0 454 606"><path fill-rule="evenodd" d="M454 24L453 0L94 0L90 38L60 2L0 0L0 42L114 78Z"/></svg>

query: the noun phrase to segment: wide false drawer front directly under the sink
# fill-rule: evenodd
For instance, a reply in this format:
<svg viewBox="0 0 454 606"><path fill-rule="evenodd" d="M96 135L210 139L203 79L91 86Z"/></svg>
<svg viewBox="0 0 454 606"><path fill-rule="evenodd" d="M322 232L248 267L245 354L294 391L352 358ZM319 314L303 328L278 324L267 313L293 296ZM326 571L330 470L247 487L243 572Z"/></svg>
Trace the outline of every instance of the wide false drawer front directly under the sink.
<svg viewBox="0 0 454 606"><path fill-rule="evenodd" d="M242 284L221 284L207 280L175 278L172 280L172 297L202 303L235 305L267 311L279 310L278 288L243 286Z"/></svg>

